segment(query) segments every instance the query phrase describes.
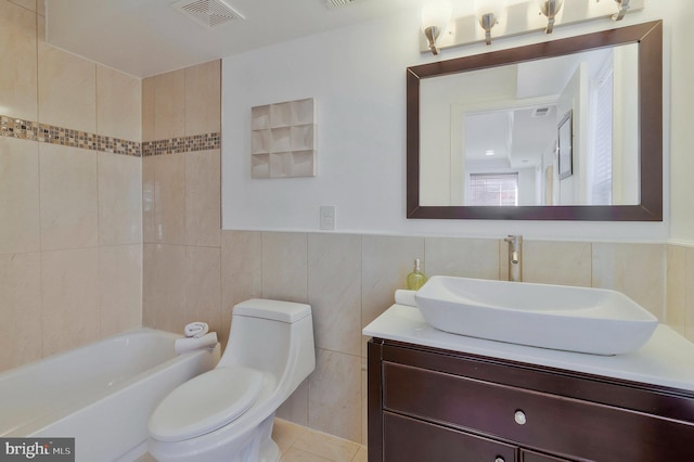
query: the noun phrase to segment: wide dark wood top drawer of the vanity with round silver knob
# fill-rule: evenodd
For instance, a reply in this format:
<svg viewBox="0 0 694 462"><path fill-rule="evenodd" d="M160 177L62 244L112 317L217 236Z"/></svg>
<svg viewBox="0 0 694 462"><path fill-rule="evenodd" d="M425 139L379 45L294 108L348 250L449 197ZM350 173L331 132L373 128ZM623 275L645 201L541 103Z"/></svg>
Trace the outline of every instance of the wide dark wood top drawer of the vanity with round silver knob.
<svg viewBox="0 0 694 462"><path fill-rule="evenodd" d="M386 410L519 446L596 461L694 460L690 423L391 362L383 381Z"/></svg>

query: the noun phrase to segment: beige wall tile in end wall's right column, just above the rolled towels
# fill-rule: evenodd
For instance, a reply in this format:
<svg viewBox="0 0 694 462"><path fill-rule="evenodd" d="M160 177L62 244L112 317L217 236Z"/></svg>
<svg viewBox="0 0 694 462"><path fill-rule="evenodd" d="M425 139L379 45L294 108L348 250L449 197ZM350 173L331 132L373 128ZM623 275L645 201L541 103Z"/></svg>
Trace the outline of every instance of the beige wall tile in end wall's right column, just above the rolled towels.
<svg viewBox="0 0 694 462"><path fill-rule="evenodd" d="M203 321L210 331L220 332L221 249L185 247L185 262L187 322Z"/></svg>

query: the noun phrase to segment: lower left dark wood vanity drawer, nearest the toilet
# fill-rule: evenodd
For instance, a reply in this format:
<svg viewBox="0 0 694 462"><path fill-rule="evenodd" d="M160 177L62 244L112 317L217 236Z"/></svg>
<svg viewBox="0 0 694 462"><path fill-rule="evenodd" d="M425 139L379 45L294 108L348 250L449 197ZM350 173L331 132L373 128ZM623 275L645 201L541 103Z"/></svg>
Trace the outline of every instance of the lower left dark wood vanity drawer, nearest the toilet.
<svg viewBox="0 0 694 462"><path fill-rule="evenodd" d="M383 460L515 462L516 447L406 416L384 413Z"/></svg>

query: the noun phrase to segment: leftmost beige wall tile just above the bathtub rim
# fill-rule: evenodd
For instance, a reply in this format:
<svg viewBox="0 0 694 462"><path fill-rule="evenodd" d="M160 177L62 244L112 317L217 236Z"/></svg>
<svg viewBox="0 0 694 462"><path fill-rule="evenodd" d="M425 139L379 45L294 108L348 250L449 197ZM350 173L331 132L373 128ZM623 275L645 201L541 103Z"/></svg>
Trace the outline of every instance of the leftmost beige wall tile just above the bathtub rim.
<svg viewBox="0 0 694 462"><path fill-rule="evenodd" d="M41 358L40 281L39 253L0 255L0 371Z"/></svg>

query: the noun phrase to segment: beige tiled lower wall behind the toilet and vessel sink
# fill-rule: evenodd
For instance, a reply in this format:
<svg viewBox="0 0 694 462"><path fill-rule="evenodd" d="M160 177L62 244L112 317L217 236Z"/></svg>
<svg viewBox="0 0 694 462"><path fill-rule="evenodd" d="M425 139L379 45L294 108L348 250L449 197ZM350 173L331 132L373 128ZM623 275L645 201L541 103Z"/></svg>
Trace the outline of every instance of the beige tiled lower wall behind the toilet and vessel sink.
<svg viewBox="0 0 694 462"><path fill-rule="evenodd" d="M666 321L667 257L678 251L694 258L694 249L663 244L526 241L524 279L615 288ZM413 259L423 258L428 274L506 279L507 271L507 245L500 240L222 231L221 252L224 317L249 296L309 303L313 309L317 370L278 415L362 442L361 329L393 304ZM681 273L683 286L684 280L694 283L692 264Z"/></svg>

